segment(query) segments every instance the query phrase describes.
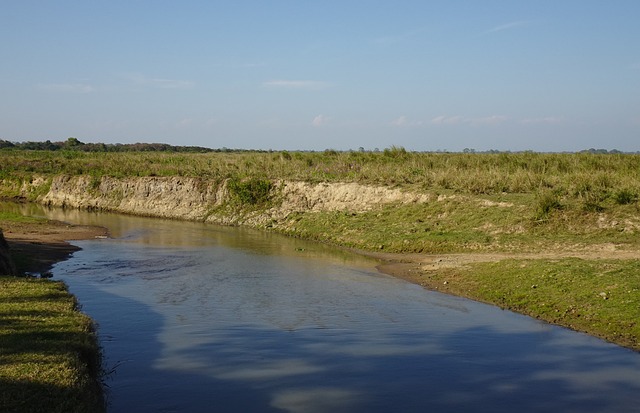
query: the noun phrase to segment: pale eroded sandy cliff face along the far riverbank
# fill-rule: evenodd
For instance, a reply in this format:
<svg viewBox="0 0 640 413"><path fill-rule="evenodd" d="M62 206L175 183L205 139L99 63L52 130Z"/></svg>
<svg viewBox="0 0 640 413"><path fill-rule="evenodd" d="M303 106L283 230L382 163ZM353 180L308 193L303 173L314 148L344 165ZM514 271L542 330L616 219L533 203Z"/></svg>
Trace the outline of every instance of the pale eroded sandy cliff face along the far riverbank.
<svg viewBox="0 0 640 413"><path fill-rule="evenodd" d="M35 181L34 181L35 182ZM185 177L95 179L59 176L39 202L58 207L99 209L163 218L222 224L261 225L292 212L366 211L386 203L427 202L426 194L356 183L283 181L274 185L274 206L242 214L220 208L228 204L226 182Z"/></svg>

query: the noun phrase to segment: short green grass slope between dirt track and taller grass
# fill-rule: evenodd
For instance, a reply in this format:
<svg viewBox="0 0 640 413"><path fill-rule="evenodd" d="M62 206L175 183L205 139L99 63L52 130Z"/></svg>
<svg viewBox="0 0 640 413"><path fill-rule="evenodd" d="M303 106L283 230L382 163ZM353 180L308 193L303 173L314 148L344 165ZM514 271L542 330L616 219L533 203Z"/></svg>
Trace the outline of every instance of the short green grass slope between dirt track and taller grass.
<svg viewBox="0 0 640 413"><path fill-rule="evenodd" d="M392 204L365 212L306 212L276 230L363 250L396 253L539 252L560 245L618 244L637 248L635 205L606 213L578 204L540 220L535 194L474 196L450 193L420 204Z"/></svg>

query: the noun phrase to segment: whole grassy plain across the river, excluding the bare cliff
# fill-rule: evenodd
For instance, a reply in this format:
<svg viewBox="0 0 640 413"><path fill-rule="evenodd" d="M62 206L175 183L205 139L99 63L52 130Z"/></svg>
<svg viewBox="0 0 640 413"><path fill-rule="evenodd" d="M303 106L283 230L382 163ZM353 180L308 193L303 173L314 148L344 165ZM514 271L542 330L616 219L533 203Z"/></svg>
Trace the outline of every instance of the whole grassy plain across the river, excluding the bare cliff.
<svg viewBox="0 0 640 413"><path fill-rule="evenodd" d="M277 196L266 203L256 200L264 200L279 180L356 182L425 194L431 201L364 212L294 213L266 227L365 251L510 254L493 262L425 270L417 281L435 288L455 279L447 291L640 350L640 269L634 261L640 258L640 155L413 153L398 147L377 152L0 150L0 165L0 196L9 198L19 194L23 181L58 174L96 181L102 176L230 179L236 201L254 209L277 203ZM557 257L549 259L550 253ZM544 274L554 274L553 283L540 279Z"/></svg>

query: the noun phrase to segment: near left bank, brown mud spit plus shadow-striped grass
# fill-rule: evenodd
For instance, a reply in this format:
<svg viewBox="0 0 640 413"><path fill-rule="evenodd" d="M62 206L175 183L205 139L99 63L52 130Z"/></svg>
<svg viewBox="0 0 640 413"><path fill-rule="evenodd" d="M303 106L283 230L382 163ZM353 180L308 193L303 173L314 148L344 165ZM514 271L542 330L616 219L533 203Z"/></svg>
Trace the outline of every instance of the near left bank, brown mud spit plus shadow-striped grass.
<svg viewBox="0 0 640 413"><path fill-rule="evenodd" d="M56 263L80 250L67 240L101 237L107 230L45 220L0 225L17 270L0 277L0 411L105 412L96 323L64 282L47 278Z"/></svg>

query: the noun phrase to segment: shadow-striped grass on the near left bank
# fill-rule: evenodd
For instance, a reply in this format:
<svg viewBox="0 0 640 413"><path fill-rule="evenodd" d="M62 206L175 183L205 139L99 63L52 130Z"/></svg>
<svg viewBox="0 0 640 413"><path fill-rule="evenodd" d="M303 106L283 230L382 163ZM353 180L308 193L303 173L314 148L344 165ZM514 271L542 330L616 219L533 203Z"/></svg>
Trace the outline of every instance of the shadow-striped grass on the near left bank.
<svg viewBox="0 0 640 413"><path fill-rule="evenodd" d="M102 412L91 320L61 282L0 276L0 411Z"/></svg>

